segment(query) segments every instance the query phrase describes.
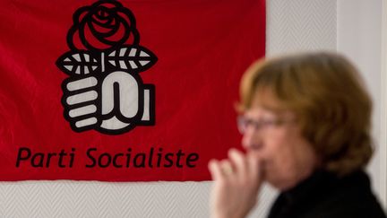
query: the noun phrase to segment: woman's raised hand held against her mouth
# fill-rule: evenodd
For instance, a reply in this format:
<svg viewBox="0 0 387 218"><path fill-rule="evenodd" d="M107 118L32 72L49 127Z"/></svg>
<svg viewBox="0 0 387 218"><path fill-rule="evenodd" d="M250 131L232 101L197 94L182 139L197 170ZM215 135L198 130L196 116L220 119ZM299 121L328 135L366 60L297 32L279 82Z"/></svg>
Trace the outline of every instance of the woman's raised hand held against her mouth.
<svg viewBox="0 0 387 218"><path fill-rule="evenodd" d="M211 218L242 218L254 207L262 176L260 161L236 149L228 160L209 162L214 184L211 190Z"/></svg>

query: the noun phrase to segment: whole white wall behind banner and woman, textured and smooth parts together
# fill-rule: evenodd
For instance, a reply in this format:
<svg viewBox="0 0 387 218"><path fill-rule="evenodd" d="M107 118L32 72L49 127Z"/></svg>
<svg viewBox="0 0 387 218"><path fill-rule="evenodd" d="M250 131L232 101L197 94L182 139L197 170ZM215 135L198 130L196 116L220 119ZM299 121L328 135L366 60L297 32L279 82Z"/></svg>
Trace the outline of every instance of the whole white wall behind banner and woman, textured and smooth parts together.
<svg viewBox="0 0 387 218"><path fill-rule="evenodd" d="M381 2L267 0L268 56L296 50L338 49L357 62L374 99L380 100ZM376 103L374 117L374 135L380 142L383 136L383 122L378 121L383 116L381 106ZM374 189L385 199L385 177L383 180L380 174L385 173L385 162L383 167L380 164L383 161L379 155L370 171ZM203 218L209 214L210 186L211 182L3 182L0 184L0 217ZM251 216L264 217L275 195L270 187L264 187L260 205Z"/></svg>

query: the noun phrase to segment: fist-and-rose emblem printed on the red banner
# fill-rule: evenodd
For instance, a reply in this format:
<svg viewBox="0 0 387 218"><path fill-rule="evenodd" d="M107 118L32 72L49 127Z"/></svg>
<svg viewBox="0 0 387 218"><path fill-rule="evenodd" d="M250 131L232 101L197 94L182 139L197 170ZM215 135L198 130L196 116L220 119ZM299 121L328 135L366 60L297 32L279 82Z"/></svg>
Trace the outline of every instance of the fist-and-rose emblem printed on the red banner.
<svg viewBox="0 0 387 218"><path fill-rule="evenodd" d="M155 88L144 84L140 73L157 57L139 45L129 9L112 0L78 9L67 44L71 50L56 65L69 75L62 83L62 105L74 131L118 135L154 125Z"/></svg>

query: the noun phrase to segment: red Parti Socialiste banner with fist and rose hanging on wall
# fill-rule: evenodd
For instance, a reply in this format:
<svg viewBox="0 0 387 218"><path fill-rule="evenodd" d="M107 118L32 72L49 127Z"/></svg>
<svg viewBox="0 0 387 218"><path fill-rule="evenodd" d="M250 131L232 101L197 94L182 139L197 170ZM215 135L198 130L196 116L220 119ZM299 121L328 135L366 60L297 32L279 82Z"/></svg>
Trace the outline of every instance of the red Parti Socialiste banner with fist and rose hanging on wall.
<svg viewBox="0 0 387 218"><path fill-rule="evenodd" d="M264 51L264 0L7 0L0 180L210 179Z"/></svg>

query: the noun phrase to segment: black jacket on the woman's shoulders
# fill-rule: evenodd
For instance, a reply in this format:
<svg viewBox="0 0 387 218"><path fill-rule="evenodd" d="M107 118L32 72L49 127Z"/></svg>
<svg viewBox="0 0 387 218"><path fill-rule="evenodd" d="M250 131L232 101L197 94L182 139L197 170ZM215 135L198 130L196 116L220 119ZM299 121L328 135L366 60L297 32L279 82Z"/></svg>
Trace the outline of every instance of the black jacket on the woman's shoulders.
<svg viewBox="0 0 387 218"><path fill-rule="evenodd" d="M364 171L346 177L316 171L278 196L269 218L386 218Z"/></svg>

